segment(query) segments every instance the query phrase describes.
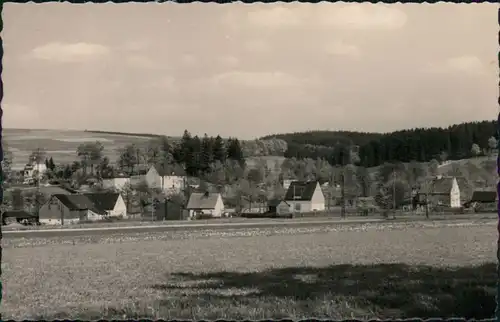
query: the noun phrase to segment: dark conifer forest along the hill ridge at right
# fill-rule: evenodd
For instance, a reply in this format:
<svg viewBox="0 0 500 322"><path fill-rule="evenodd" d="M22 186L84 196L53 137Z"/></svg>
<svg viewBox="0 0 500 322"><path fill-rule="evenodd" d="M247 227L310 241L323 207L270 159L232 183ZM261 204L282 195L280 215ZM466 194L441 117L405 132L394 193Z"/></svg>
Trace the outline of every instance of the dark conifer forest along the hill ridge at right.
<svg viewBox="0 0 500 322"><path fill-rule="evenodd" d="M468 122L447 128L417 128L387 134L311 131L279 134L287 142L287 157L324 158L332 164L339 147L358 146L360 163L373 167L385 162L458 160L497 149L495 121ZM474 146L474 150L471 147Z"/></svg>

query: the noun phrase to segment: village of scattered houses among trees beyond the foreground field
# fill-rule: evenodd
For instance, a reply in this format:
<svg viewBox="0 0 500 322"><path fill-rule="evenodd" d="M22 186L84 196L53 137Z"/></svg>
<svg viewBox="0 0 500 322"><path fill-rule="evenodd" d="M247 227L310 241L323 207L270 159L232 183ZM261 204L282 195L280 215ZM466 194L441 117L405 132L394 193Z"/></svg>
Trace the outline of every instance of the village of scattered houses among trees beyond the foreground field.
<svg viewBox="0 0 500 322"><path fill-rule="evenodd" d="M103 171L100 175L85 176L78 184L75 180L54 178L53 159L39 150L31 158L33 161L19 172L19 183L7 190L11 198L5 198L3 225L229 217L394 217L396 213L429 218L432 213L494 212L497 200L493 189L478 189L466 194L464 178L438 174L425 177L421 185L425 188L414 186L406 194L399 191L402 189L400 182L393 181L392 187L390 184L387 187L385 200L376 200L377 196L350 192L352 189L346 179L349 168L340 176L332 177L336 180L333 183L321 179L283 179L280 173L276 176L278 187L272 186L271 192L266 190L269 187L265 184L256 182L254 187L247 187L251 192L245 195L237 191L236 197L233 194L231 198L228 186L214 185L196 176L176 175L171 172L172 167L136 166L137 173L141 173L136 175L117 171L108 171L110 174L106 175ZM68 166L62 168L68 169ZM247 177L254 170L247 171L250 172ZM392 174L396 174L396 169ZM241 188L241 182L238 186Z"/></svg>

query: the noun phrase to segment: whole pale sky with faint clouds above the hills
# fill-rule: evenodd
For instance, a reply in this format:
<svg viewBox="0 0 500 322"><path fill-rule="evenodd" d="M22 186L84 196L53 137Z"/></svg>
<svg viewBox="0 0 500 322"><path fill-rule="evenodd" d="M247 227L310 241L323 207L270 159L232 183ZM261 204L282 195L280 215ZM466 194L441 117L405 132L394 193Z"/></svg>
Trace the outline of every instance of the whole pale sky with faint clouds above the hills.
<svg viewBox="0 0 500 322"><path fill-rule="evenodd" d="M244 139L494 119L497 6L4 4L3 126Z"/></svg>

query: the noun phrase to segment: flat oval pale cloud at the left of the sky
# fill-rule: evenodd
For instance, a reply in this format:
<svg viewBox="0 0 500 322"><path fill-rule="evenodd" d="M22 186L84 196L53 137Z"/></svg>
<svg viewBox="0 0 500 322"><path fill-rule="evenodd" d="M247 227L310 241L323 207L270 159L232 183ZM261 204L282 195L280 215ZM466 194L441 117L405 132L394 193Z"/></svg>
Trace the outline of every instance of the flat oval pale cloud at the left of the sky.
<svg viewBox="0 0 500 322"><path fill-rule="evenodd" d="M52 42L33 49L32 56L40 60L69 63L96 59L108 55L109 52L107 47L99 44Z"/></svg>

